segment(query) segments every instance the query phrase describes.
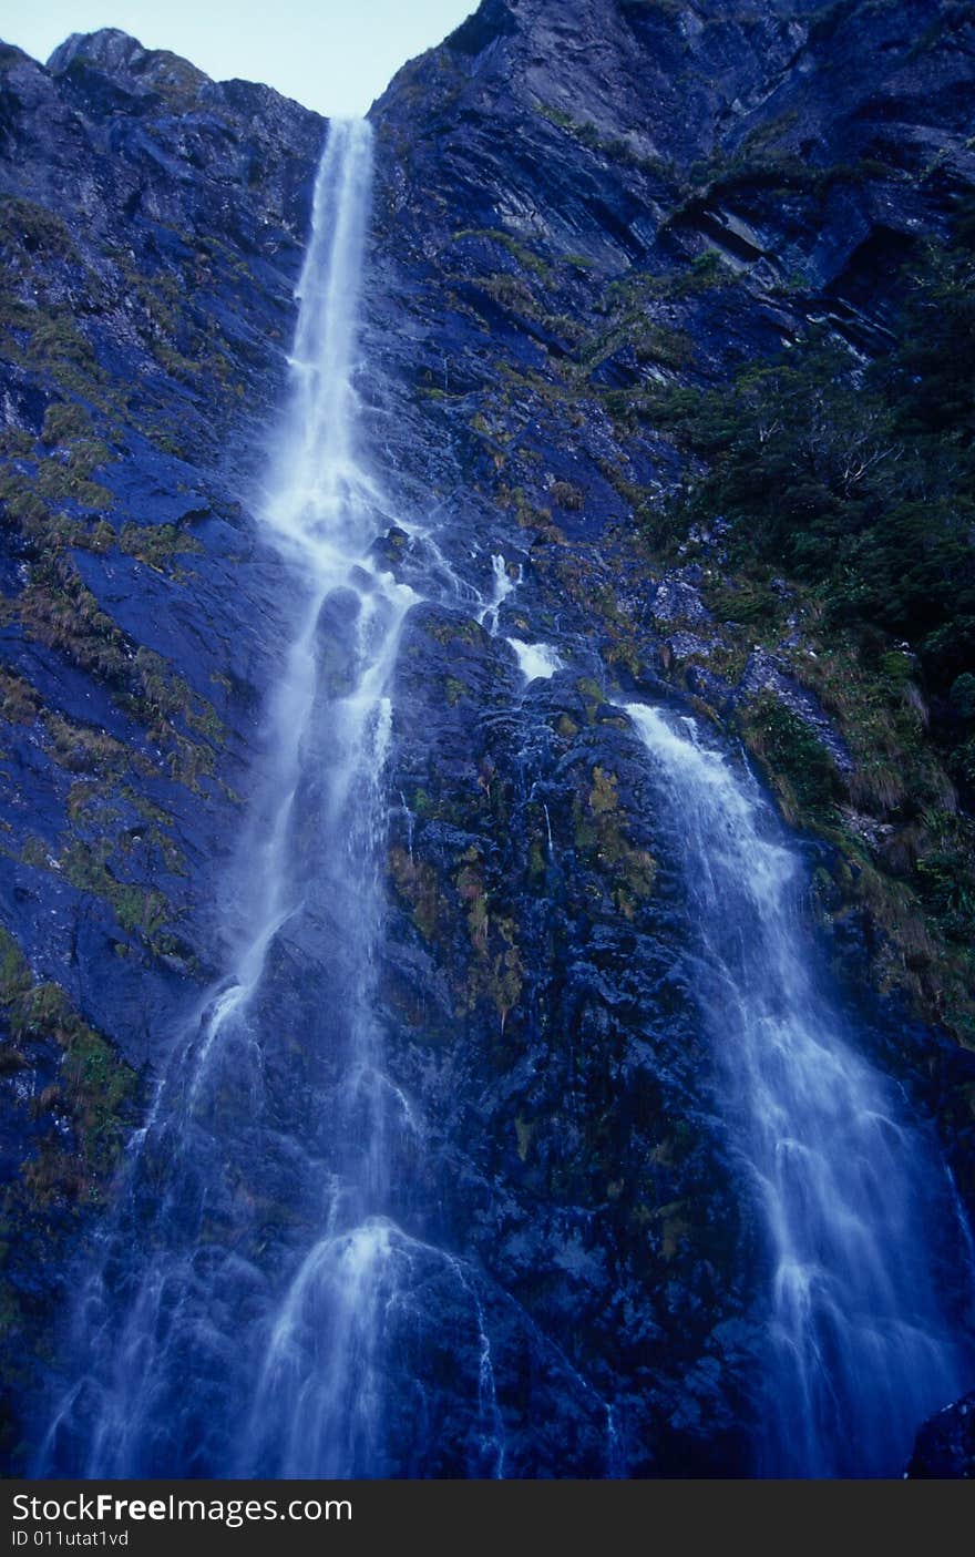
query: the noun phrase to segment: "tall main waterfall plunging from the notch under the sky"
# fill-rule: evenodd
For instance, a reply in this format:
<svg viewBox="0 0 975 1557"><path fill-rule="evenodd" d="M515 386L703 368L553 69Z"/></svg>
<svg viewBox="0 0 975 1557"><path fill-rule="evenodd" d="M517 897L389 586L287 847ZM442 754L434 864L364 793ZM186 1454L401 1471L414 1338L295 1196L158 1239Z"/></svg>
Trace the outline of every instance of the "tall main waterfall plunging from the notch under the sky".
<svg viewBox="0 0 975 1557"><path fill-rule="evenodd" d="M131 1143L42 1474L349 1476L382 1460L385 1133L408 1107L382 1071L372 970L388 682L416 596L371 559L388 520L355 436L371 140L364 121L332 125L297 286L263 523L305 601L231 967Z"/></svg>

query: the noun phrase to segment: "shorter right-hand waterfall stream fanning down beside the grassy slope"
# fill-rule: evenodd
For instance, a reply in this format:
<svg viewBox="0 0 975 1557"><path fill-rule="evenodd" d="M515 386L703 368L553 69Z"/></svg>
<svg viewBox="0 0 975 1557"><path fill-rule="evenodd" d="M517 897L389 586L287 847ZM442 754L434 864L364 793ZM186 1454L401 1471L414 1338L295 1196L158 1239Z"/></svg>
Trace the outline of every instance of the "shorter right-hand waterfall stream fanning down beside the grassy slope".
<svg viewBox="0 0 975 1557"><path fill-rule="evenodd" d="M797 856L690 718L628 704L695 925L695 995L768 1264L760 1470L896 1476L961 1389L931 1250L963 1246L936 1148L810 967Z"/></svg>

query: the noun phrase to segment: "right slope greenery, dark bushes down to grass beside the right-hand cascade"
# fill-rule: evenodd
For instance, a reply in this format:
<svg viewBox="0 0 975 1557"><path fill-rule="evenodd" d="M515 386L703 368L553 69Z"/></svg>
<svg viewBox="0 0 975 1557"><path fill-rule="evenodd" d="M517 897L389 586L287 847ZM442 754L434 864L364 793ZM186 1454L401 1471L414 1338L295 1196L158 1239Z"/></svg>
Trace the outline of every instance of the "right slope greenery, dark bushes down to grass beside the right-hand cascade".
<svg viewBox="0 0 975 1557"><path fill-rule="evenodd" d="M646 537L723 518L709 604L776 641L788 601L790 668L855 766L774 698L743 710L748 744L790 821L839 849L833 911L866 908L880 981L975 1043L975 209L913 260L872 366L813 333L657 411L702 473Z"/></svg>

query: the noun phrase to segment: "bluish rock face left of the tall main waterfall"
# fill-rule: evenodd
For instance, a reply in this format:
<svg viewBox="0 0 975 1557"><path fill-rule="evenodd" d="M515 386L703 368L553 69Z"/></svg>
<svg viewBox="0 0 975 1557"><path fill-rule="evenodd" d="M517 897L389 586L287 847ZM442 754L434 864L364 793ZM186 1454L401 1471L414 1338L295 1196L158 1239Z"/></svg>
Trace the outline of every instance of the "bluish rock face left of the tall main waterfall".
<svg viewBox="0 0 975 1557"><path fill-rule="evenodd" d="M2 1361L20 1403L139 1116L132 1067L165 1057L221 962L290 609L252 483L322 134L121 33L48 69L0 53ZM3 1431L22 1465L12 1401Z"/></svg>

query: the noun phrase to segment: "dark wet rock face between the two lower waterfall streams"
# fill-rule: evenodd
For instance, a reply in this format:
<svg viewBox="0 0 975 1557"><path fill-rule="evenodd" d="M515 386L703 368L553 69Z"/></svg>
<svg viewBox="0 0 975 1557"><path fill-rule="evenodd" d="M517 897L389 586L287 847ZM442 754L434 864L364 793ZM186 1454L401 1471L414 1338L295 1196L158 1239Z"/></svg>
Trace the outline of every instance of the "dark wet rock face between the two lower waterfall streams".
<svg viewBox="0 0 975 1557"><path fill-rule="evenodd" d="M547 1445L531 1423L562 1398L536 1380L512 1474L611 1473L607 1409L629 1473L744 1468L744 1299L718 1272L748 1232L702 1127L712 1057L673 961L690 931L632 735L586 677L512 685L458 618L414 612L400 663L383 995L425 1138L397 1219L475 1261L489 1314L517 1303L495 1331L505 1420L525 1314L586 1408L576 1450Z"/></svg>

